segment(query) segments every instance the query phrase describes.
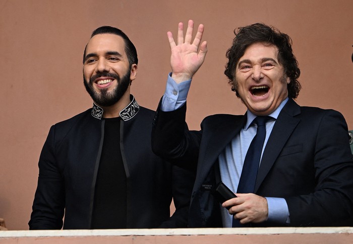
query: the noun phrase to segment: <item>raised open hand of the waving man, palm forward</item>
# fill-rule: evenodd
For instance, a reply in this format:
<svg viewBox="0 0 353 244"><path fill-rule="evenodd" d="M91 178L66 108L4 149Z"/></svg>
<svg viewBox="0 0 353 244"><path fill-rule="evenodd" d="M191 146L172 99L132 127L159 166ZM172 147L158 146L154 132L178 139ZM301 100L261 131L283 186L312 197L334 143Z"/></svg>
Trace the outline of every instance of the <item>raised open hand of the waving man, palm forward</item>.
<svg viewBox="0 0 353 244"><path fill-rule="evenodd" d="M189 20L184 38L184 25L183 23L179 23L177 43L175 43L171 32L167 32L171 50L171 77L177 83L191 79L205 60L207 42L203 41L201 43L204 26L202 24L199 25L194 41L192 41L193 30L194 22Z"/></svg>

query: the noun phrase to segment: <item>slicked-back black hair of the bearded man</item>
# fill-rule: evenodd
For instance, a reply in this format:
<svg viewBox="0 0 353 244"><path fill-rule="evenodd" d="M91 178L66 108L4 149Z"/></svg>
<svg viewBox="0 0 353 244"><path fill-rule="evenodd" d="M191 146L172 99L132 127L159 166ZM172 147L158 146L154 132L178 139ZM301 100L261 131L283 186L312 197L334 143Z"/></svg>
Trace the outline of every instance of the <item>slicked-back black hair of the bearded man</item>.
<svg viewBox="0 0 353 244"><path fill-rule="evenodd" d="M114 34L117 36L121 36L125 42L125 52L128 56L130 67L133 63L138 64L139 60L137 58L137 51L135 45L130 41L129 37L122 30L111 26L101 26L92 32L91 38L98 34ZM83 53L83 63L85 62L86 49L87 45Z"/></svg>

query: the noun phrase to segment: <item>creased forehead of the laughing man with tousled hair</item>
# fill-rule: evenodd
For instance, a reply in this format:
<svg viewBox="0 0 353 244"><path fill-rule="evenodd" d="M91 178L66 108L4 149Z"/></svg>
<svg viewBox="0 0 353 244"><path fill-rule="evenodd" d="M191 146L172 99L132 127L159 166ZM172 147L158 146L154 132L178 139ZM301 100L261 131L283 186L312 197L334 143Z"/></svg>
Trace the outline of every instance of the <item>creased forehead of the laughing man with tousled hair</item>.
<svg viewBox="0 0 353 244"><path fill-rule="evenodd" d="M258 60L262 58L273 58L277 60L278 48L269 43L257 42L253 43L245 49L244 55L240 58L239 61L244 59L249 60Z"/></svg>

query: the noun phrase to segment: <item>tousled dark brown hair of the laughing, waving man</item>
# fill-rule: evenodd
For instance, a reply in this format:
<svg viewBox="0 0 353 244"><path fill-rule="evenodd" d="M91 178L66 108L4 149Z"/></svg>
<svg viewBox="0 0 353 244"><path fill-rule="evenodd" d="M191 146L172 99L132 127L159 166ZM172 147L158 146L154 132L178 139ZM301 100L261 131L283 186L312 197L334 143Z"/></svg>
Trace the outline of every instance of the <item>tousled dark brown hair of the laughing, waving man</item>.
<svg viewBox="0 0 353 244"><path fill-rule="evenodd" d="M290 79L290 83L287 85L288 97L293 99L297 98L302 88L297 80L300 76L300 69L298 67L298 61L293 55L290 37L271 26L261 23L240 27L238 28L238 32L234 30L234 34L236 37L233 39L233 44L225 55L228 62L225 65L224 74L228 77L231 90L236 92L237 97L240 98L236 89L236 66L240 58L244 55L245 50L250 45L264 42L278 48L278 61L283 65L284 73Z"/></svg>

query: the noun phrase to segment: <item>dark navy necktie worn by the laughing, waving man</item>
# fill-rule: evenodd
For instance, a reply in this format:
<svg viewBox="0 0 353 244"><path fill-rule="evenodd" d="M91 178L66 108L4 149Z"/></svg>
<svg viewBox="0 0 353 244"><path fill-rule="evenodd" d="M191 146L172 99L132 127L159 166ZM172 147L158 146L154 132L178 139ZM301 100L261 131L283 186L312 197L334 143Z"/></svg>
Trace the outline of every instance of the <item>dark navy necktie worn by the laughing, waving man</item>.
<svg viewBox="0 0 353 244"><path fill-rule="evenodd" d="M237 193L254 193L256 176L259 169L262 147L266 137L266 121L270 117L258 116L254 119L257 131L251 141L247 155L245 156L242 175L239 180ZM232 227L249 227L250 224L241 224L233 218Z"/></svg>

